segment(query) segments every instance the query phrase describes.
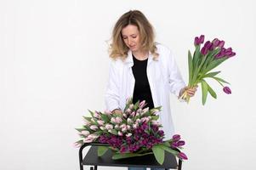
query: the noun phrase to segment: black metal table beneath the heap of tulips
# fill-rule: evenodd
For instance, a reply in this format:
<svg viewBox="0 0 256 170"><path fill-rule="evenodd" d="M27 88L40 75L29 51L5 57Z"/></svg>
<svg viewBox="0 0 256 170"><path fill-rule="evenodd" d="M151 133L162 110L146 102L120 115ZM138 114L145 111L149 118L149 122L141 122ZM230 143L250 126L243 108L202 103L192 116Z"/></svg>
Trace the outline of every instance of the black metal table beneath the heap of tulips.
<svg viewBox="0 0 256 170"><path fill-rule="evenodd" d="M86 156L82 159L82 150L86 146L92 146ZM93 166L90 167L90 170L97 170L97 166L108 166L108 167L155 167L155 168L164 168L164 169L177 169L181 170L182 161L179 160L177 164L176 157L167 151L165 151L165 158L162 165L160 165L154 156L154 154L146 156L138 156L125 158L120 160L112 160L112 151L107 150L105 155L98 156L97 147L100 145L109 146L108 144L99 144L99 143L88 143L82 144L79 149L79 165L80 170L83 170L84 165Z"/></svg>

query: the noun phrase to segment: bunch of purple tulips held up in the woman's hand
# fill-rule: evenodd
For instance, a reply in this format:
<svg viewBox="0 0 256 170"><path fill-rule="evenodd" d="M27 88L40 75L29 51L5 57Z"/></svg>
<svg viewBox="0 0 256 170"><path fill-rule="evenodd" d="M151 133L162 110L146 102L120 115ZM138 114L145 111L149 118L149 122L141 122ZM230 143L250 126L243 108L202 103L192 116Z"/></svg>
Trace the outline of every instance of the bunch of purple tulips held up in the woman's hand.
<svg viewBox="0 0 256 170"><path fill-rule="evenodd" d="M210 87L205 78L213 78L223 87L225 94L231 94L229 87L225 86L224 83L229 84L224 79L216 77L220 71L212 71L215 67L223 63L226 59L230 59L235 56L236 53L232 51L232 48L225 48L224 41L220 41L218 38L214 38L213 41L204 42L204 36L195 37L194 45L196 47L193 56L191 51L188 53L189 63L189 84L188 88L195 87L198 83L202 85L202 105L205 105L208 93L212 95L214 99L217 99L217 94ZM210 72L212 71L212 72ZM190 101L190 96L185 91L181 95L181 99L185 99L187 102Z"/></svg>

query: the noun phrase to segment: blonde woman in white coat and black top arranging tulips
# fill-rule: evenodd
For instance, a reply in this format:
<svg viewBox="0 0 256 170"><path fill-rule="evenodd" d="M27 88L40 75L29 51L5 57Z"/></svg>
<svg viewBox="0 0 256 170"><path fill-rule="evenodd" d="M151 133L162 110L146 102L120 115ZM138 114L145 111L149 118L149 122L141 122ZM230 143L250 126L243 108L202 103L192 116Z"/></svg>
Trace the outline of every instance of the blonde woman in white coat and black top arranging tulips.
<svg viewBox="0 0 256 170"><path fill-rule="evenodd" d="M134 103L145 100L150 109L162 106L159 122L165 138L170 139L174 134L174 124L169 92L179 97L186 90L192 97L196 88L185 87L174 55L154 40L153 27L140 11L128 11L117 20L112 31L112 60L105 105L108 111L120 114L130 97Z"/></svg>

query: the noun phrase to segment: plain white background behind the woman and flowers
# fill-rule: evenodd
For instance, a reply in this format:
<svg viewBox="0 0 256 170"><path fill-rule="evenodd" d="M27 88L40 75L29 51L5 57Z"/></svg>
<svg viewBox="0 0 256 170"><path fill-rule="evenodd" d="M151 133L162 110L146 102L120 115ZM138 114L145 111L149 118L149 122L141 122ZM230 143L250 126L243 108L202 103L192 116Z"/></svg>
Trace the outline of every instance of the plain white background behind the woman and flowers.
<svg viewBox="0 0 256 170"><path fill-rule="evenodd" d="M255 7L253 0L1 0L0 169L78 169L74 128L88 109L105 110L106 42L129 9L151 21L186 82L194 37L219 37L236 51L216 70L232 94L209 81L218 99L208 96L205 106L201 88L189 105L172 95L174 126L186 141L183 169L256 169Z"/></svg>

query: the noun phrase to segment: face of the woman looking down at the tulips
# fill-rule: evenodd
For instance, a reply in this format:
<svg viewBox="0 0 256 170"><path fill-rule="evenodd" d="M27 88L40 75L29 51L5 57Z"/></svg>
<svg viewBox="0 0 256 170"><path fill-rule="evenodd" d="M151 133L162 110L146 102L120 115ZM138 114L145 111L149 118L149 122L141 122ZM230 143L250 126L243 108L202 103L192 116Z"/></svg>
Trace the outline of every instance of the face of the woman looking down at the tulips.
<svg viewBox="0 0 256 170"><path fill-rule="evenodd" d="M137 26L128 25L122 28L122 39L132 52L137 52L140 49L139 30Z"/></svg>

